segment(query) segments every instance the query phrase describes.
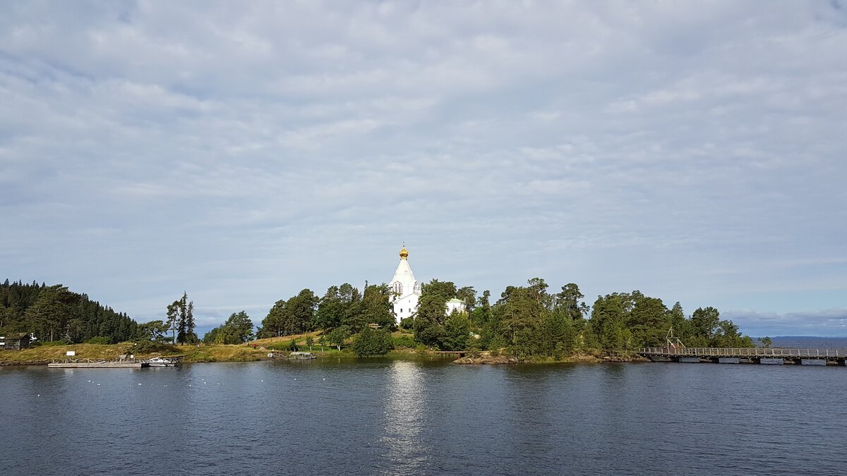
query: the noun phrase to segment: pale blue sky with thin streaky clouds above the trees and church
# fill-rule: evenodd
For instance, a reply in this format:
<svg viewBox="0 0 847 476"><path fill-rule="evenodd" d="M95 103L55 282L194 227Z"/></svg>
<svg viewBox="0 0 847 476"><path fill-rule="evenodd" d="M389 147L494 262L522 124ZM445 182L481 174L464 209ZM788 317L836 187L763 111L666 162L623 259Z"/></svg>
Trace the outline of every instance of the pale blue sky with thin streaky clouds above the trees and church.
<svg viewBox="0 0 847 476"><path fill-rule="evenodd" d="M0 3L0 279L540 277L847 336L847 3Z"/></svg>

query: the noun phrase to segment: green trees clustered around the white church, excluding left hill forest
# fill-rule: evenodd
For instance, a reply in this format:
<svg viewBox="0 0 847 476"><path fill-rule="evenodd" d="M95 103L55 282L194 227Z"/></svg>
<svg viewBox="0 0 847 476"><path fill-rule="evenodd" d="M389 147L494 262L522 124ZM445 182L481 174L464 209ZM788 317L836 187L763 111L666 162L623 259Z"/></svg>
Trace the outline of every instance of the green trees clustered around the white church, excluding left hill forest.
<svg viewBox="0 0 847 476"><path fill-rule="evenodd" d="M663 346L668 329L687 346L754 346L738 325L721 319L714 307L685 316L679 302L668 308L640 291L597 296L588 306L579 286L550 291L540 278L509 285L495 302L490 291L477 296L472 286L431 280L422 285L417 312L400 327L413 335L412 345L446 351L507 351L518 358L562 358L576 351L634 351ZM322 331L324 340L343 345L350 336L364 339L363 329L396 330L387 285L369 285L364 293L349 283L330 286L324 296L304 289L270 309L258 337ZM458 298L461 311L446 313L446 302ZM370 325L375 324L375 325ZM368 330L368 339L384 340ZM365 346L365 344L362 344Z"/></svg>

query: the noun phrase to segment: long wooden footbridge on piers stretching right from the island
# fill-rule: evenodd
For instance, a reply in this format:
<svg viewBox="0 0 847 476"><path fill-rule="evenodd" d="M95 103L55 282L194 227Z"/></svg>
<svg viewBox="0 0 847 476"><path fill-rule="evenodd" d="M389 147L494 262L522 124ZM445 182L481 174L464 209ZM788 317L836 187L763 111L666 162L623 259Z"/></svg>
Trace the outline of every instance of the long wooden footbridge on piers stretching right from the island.
<svg viewBox="0 0 847 476"><path fill-rule="evenodd" d="M766 363L780 365L844 365L847 349L783 349L763 347L645 347L638 354L654 362Z"/></svg>

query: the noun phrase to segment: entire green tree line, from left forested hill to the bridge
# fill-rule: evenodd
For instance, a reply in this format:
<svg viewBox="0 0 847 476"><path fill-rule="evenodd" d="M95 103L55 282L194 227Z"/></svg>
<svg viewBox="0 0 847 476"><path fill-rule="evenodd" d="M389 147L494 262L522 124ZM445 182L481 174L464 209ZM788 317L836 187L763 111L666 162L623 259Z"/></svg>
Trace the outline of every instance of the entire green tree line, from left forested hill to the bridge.
<svg viewBox="0 0 847 476"><path fill-rule="evenodd" d="M732 321L721 319L714 307L698 308L687 317L679 302L668 308L662 299L640 291L597 296L589 307L578 285L568 283L558 291L549 287L545 280L534 278L526 285L507 286L493 301L490 291L478 296L473 286L431 280L422 285L417 312L399 326L412 334L403 337L402 344L562 358L592 349L662 346L667 330L673 327L686 346L753 346L750 337L741 335ZM322 341L339 349L354 337L365 355L374 349L387 351L392 342L389 333L398 327L391 297L385 284L366 285L363 292L349 283L332 285L323 296L304 289L275 302L255 337L321 331ZM464 302L464 307L447 314L446 302L454 297ZM197 343L193 312L194 302L184 292L167 306L165 318L137 324L125 313L116 313L63 285L8 280L0 285L0 332L35 332L42 341ZM364 329L368 330L363 333ZM241 311L232 313L202 341L240 344L253 336L252 320Z"/></svg>

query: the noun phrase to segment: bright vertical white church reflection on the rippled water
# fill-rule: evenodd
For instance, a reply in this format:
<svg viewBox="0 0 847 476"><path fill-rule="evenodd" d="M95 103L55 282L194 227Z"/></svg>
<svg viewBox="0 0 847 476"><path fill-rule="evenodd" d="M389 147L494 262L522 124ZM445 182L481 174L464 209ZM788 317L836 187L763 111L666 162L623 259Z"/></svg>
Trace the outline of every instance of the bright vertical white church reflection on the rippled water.
<svg viewBox="0 0 847 476"><path fill-rule="evenodd" d="M417 363L391 364L382 440L392 468L387 473L417 473L429 448L420 438L424 422L424 376Z"/></svg>

